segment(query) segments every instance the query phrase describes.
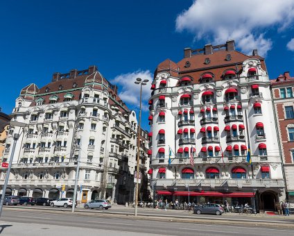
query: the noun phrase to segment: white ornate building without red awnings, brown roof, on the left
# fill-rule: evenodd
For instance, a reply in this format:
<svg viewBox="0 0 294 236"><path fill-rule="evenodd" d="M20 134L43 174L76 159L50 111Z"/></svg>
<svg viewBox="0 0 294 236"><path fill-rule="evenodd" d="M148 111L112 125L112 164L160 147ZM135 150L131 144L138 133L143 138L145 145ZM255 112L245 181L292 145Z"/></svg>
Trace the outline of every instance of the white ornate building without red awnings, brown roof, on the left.
<svg viewBox="0 0 294 236"><path fill-rule="evenodd" d="M21 134L6 194L72 197L80 162L78 201L133 200L136 113L126 107L117 87L97 67L55 73L51 83L40 89L35 84L24 87L11 116L26 127L12 126L6 140L10 145L12 133ZM9 160L10 153L8 149L4 158ZM2 172L2 185L5 176Z"/></svg>

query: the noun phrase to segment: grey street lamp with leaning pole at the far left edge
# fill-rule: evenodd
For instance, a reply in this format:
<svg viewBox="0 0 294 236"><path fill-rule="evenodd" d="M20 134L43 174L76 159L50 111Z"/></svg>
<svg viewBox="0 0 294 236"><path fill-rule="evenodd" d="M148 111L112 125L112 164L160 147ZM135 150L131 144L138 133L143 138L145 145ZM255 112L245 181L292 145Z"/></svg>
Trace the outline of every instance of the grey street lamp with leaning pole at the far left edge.
<svg viewBox="0 0 294 236"><path fill-rule="evenodd" d="M10 121L10 126L19 126L19 127L26 127L27 124L24 124L22 122L18 122L18 121ZM0 217L2 214L2 208L3 208L3 201L4 201L4 197L6 194L6 188L8 185L8 180L9 180L9 174L10 174L10 170L11 170L11 165L12 165L12 160L13 160L13 156L15 155L15 146L17 145L17 140L19 140L20 137L20 133L15 133L13 135L13 146L12 146L12 150L11 150L11 155L10 155L10 159L9 159L9 164L8 164L8 169L6 171L6 178L5 178L5 182L3 185L3 189L2 189L2 196L1 196L1 201L0 201Z"/></svg>

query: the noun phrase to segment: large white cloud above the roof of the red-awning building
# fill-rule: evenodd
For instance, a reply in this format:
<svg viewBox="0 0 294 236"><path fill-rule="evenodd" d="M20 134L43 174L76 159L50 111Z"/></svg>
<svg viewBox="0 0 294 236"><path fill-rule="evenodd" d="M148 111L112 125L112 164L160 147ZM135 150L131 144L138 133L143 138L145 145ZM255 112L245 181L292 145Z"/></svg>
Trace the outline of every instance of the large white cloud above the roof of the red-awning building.
<svg viewBox="0 0 294 236"><path fill-rule="evenodd" d="M198 0L176 19L176 30L193 33L213 44L235 40L244 53L259 49L266 56L273 42L265 37L269 27L284 31L293 23L294 0ZM207 36L209 35L209 36Z"/></svg>

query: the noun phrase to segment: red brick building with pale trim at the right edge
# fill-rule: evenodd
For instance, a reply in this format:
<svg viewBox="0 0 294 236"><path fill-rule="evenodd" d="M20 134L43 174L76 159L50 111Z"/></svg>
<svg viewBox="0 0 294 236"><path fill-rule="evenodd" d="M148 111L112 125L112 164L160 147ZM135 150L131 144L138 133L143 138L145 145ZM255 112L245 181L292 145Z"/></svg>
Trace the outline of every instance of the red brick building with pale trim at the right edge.
<svg viewBox="0 0 294 236"><path fill-rule="evenodd" d="M294 202L294 78L284 72L271 80L288 200Z"/></svg>

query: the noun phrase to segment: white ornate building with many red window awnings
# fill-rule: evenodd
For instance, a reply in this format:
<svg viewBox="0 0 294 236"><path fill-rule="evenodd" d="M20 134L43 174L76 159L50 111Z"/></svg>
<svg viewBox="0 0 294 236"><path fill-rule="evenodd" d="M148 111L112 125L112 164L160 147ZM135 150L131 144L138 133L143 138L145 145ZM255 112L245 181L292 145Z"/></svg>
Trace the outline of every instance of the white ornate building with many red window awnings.
<svg viewBox="0 0 294 236"><path fill-rule="evenodd" d="M270 80L257 50L246 56L233 40L184 49L180 62L157 66L151 90L148 173L157 199L227 199L257 210L284 199Z"/></svg>

